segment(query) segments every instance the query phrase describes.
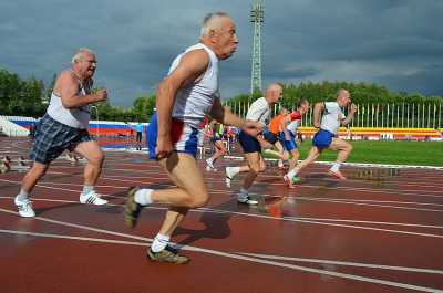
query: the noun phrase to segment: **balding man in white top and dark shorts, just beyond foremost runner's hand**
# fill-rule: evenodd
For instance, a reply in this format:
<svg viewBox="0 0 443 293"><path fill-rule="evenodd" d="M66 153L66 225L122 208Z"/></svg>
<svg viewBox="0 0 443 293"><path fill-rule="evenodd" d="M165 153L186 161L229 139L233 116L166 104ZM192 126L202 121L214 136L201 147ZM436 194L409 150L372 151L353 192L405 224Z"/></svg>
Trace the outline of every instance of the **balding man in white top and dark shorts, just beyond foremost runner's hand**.
<svg viewBox="0 0 443 293"><path fill-rule="evenodd" d="M271 83L267 88L264 97L256 100L249 107L246 118L255 121L264 127L269 124L271 107L277 104L284 93L280 83ZM238 140L245 153L248 165L240 167L226 167L226 185L230 187L234 176L239 172L248 172L241 184L240 191L237 195L237 201L247 205L257 205L258 201L249 197L249 188L259 172L266 170L265 159L261 155L261 145L268 144L262 135L251 136L245 132L240 132Z"/></svg>

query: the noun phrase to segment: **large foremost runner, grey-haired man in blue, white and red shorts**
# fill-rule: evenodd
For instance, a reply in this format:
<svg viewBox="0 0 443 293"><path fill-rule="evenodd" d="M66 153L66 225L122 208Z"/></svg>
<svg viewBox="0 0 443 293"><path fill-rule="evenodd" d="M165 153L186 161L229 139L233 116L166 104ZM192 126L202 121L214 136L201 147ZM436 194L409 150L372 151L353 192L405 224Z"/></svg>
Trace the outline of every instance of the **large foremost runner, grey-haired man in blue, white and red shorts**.
<svg viewBox="0 0 443 293"><path fill-rule="evenodd" d="M260 125L246 122L223 107L218 95L218 61L231 56L238 44L236 27L224 12L208 14L202 27L200 43L188 48L171 67L168 76L159 84L156 95L157 116L150 129L150 156L177 186L169 189L128 190L125 220L134 227L144 206L167 203L169 210L147 255L153 261L186 263L168 245L171 236L189 208L205 206L209 196L195 155L198 125L206 114L227 125L235 125L255 134Z"/></svg>

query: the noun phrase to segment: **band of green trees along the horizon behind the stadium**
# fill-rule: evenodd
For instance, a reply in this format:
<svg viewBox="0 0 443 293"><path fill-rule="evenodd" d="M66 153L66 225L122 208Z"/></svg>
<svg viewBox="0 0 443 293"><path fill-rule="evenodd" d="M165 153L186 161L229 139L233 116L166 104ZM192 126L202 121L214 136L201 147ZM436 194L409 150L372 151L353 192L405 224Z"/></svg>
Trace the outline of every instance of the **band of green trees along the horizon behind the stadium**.
<svg viewBox="0 0 443 293"><path fill-rule="evenodd" d="M43 81L30 77L20 79L16 73L0 70L0 115L41 117L48 107L49 98L55 82L53 76L49 86ZM333 101L339 88L347 88L356 104L392 103L405 104L442 104L442 96L425 96L420 93L391 92L388 87L373 83L352 82L301 82L286 84L281 105L292 108L299 98L307 98L311 104L319 101ZM250 103L262 96L260 91L254 94L238 94L225 102L226 105ZM226 100L226 98L225 98ZM141 95L130 108L112 106L107 102L99 103L92 109L92 119L148 122L155 107L155 94Z"/></svg>

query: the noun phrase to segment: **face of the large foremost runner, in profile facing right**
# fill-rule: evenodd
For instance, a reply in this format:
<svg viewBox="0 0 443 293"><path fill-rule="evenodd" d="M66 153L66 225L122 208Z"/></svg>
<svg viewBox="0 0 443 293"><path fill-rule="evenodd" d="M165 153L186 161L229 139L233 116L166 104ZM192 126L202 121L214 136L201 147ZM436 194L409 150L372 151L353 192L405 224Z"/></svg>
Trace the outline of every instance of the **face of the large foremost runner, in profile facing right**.
<svg viewBox="0 0 443 293"><path fill-rule="evenodd" d="M237 49L236 27L230 18L220 19L220 28L214 31L215 53L220 60L230 57Z"/></svg>

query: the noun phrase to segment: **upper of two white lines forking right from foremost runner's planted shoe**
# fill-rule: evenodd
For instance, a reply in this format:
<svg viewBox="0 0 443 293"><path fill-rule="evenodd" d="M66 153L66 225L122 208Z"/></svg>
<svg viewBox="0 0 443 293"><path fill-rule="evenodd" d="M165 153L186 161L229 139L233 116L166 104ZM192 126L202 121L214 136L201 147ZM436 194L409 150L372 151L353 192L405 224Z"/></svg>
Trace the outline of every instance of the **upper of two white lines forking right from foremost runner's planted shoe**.
<svg viewBox="0 0 443 293"><path fill-rule="evenodd" d="M291 257L270 255L270 254L261 254L261 253L245 253L245 252L238 252L238 253L243 254L243 255L249 255L249 257L261 258L261 259L267 259L267 260L324 263L324 264L336 264L336 265L344 265L344 266L358 266L358 268L368 268L368 269L413 272L413 273L443 274L442 270L431 270L431 269L421 269L421 268L394 266L394 265L383 265L383 264L373 264L373 263L344 262L344 261L318 260L318 259L306 259L306 258L291 258Z"/></svg>

